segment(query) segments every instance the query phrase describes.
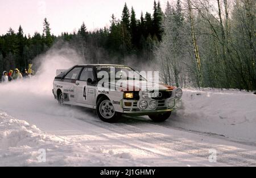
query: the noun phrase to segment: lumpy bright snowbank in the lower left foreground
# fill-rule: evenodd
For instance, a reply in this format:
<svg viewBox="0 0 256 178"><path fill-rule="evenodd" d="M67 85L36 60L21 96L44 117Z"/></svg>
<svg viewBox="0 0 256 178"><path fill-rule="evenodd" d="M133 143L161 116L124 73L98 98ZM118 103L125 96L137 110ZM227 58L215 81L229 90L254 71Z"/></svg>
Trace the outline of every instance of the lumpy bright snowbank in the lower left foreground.
<svg viewBox="0 0 256 178"><path fill-rule="evenodd" d="M137 165L129 152L82 145L72 138L43 133L35 125L3 111L0 111L0 160L0 166Z"/></svg>

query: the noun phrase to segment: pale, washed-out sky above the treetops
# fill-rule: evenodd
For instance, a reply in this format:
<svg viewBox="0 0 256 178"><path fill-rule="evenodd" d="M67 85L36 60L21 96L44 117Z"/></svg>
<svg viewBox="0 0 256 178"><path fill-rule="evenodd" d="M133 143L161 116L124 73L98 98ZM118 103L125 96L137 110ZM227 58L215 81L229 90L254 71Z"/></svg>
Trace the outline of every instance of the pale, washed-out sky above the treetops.
<svg viewBox="0 0 256 178"><path fill-rule="evenodd" d="M167 1L160 0L163 10ZM82 22L90 31L109 27L112 14L121 19L125 2L129 10L134 7L137 18L142 11L153 13L154 0L0 0L0 34L6 34L10 27L17 32L19 25L26 35L42 34L44 18L54 35L77 31Z"/></svg>

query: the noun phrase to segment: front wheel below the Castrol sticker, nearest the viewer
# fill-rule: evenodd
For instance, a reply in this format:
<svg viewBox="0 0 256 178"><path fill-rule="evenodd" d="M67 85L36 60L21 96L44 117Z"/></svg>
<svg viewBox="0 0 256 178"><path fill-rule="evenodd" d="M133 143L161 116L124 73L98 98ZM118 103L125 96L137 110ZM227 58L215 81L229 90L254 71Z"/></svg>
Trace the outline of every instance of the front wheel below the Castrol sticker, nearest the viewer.
<svg viewBox="0 0 256 178"><path fill-rule="evenodd" d="M115 112L112 102L107 97L101 97L97 101L96 112L98 117L104 122L114 123L121 117L121 113Z"/></svg>

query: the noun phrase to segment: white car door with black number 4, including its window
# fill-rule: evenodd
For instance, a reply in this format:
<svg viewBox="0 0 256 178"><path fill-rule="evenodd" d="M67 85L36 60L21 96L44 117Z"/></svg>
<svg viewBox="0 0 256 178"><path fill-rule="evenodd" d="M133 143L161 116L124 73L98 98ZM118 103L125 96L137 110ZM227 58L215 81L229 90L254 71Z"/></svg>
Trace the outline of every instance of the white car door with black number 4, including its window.
<svg viewBox="0 0 256 178"><path fill-rule="evenodd" d="M88 79L90 81L88 82ZM79 80L76 81L77 102L80 104L96 105L96 77L92 67L82 69Z"/></svg>

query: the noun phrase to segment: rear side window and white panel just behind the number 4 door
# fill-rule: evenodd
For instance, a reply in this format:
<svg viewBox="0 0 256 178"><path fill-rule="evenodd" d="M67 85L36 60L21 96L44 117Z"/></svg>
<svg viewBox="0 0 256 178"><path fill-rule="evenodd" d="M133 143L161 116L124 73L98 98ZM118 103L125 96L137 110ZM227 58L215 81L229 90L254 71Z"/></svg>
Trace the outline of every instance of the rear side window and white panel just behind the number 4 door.
<svg viewBox="0 0 256 178"><path fill-rule="evenodd" d="M79 78L82 67L75 67L69 71L63 78L63 95L64 102L75 104L75 83Z"/></svg>

